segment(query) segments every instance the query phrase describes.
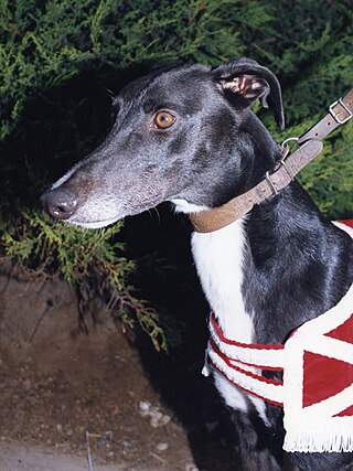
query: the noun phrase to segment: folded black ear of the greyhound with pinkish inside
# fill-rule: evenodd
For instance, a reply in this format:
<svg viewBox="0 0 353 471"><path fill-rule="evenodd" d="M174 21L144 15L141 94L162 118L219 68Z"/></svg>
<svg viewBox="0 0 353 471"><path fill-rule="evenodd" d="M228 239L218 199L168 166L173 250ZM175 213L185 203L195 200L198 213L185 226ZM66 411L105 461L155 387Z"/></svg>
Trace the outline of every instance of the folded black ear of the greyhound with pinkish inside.
<svg viewBox="0 0 353 471"><path fill-rule="evenodd" d="M276 76L257 62L243 57L214 68L211 74L220 89L233 101L248 108L259 98L261 105L274 108L280 129L285 128L282 96Z"/></svg>

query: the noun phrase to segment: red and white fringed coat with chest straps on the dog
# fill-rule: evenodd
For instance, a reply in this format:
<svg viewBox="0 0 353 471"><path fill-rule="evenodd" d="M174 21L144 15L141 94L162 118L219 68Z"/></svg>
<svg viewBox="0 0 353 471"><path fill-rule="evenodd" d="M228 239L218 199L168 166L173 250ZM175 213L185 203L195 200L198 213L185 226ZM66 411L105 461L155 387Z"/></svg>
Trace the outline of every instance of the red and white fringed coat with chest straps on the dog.
<svg viewBox="0 0 353 471"><path fill-rule="evenodd" d="M203 374L210 366L237 387L284 407L286 451L353 451L353 285L324 314L285 344L225 338L213 314ZM270 379L265 371L282 373Z"/></svg>

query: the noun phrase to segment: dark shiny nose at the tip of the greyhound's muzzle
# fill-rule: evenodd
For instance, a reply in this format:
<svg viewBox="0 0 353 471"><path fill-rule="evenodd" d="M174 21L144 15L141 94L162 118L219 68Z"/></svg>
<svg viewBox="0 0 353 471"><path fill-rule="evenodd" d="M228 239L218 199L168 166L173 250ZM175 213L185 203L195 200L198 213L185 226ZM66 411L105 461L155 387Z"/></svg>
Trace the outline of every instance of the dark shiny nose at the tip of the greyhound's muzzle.
<svg viewBox="0 0 353 471"><path fill-rule="evenodd" d="M55 220L68 220L78 206L78 197L64 189L47 190L41 196L44 210Z"/></svg>

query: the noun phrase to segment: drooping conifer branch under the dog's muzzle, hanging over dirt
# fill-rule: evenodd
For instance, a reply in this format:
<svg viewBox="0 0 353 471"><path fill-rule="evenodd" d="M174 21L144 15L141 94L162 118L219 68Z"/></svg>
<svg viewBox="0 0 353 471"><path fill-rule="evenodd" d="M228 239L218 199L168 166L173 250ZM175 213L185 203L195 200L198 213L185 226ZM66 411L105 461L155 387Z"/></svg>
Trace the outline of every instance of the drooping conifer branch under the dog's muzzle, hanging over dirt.
<svg viewBox="0 0 353 471"><path fill-rule="evenodd" d="M0 232L2 256L25 267L32 276L62 276L78 296L83 327L87 312L94 320L113 314L132 329L138 322L157 350L167 350L167 338L158 313L138 299L127 283L135 263L122 257L124 244L117 242L122 223L88 232L75 226L52 223L39 213L23 213L18 225ZM0 254L1 255L1 254Z"/></svg>

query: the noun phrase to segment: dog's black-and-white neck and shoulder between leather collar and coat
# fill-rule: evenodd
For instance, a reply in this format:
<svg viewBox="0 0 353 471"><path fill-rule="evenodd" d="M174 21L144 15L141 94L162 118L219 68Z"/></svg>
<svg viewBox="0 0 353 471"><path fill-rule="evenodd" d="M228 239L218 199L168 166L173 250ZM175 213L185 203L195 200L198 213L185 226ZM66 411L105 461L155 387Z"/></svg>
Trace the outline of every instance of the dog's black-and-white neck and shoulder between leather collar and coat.
<svg viewBox="0 0 353 471"><path fill-rule="evenodd" d="M297 182L227 227L194 233L197 272L226 336L282 342L334 306L352 281L343 238Z"/></svg>

